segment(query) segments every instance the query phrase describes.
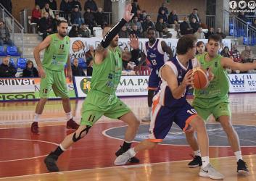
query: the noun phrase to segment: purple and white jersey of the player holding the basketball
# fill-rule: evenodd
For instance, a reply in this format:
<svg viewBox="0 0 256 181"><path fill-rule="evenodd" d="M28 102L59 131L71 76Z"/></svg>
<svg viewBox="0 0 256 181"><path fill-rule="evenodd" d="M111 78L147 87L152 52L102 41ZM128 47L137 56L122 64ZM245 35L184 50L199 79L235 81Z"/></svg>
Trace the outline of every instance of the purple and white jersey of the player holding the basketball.
<svg viewBox="0 0 256 181"><path fill-rule="evenodd" d="M169 62L165 62L166 66L169 66L173 72L175 73L178 81L178 85L180 85L183 81L183 78L186 75L186 72L193 69L193 67L196 67L197 60L189 60L188 67L183 67L181 62L179 62L178 57L174 57ZM160 70L160 77L161 77L161 70ZM184 104L186 104L186 94L189 90L189 87L186 88L181 98L173 98L173 93L170 91L170 88L168 87L168 83L162 79L162 83L160 84L160 87L158 88L158 92L154 96L154 99L159 98L159 104L162 106L168 106L169 108L174 107L181 107Z"/></svg>

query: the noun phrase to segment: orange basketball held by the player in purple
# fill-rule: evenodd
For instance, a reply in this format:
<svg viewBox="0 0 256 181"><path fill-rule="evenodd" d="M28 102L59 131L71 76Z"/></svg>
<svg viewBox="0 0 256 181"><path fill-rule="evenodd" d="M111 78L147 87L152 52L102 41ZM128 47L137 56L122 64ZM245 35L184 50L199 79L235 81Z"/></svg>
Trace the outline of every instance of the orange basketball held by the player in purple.
<svg viewBox="0 0 256 181"><path fill-rule="evenodd" d="M200 67L194 68L193 77L194 77L194 88L203 89L203 88L207 88L207 86L209 85L209 80L208 80L206 70L203 70Z"/></svg>

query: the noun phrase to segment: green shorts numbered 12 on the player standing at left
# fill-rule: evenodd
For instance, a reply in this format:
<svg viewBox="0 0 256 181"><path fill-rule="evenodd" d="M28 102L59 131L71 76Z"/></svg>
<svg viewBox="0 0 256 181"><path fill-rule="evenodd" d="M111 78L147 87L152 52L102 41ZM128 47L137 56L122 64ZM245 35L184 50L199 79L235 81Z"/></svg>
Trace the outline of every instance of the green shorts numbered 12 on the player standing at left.
<svg viewBox="0 0 256 181"><path fill-rule="evenodd" d="M64 71L54 71L44 68L46 77L41 78L40 98L49 98L52 88L57 97L68 98L67 83Z"/></svg>

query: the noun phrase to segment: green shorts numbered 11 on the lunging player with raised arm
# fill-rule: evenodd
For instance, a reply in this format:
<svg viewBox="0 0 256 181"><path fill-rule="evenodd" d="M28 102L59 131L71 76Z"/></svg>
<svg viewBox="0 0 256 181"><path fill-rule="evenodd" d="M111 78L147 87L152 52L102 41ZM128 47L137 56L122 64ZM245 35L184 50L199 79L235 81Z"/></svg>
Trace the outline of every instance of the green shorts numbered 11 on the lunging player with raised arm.
<svg viewBox="0 0 256 181"><path fill-rule="evenodd" d="M131 109L123 101L120 101L117 96L113 96L110 99L109 94L90 90L86 100L83 102L80 125L92 126L102 115L111 119L119 119L130 111Z"/></svg>

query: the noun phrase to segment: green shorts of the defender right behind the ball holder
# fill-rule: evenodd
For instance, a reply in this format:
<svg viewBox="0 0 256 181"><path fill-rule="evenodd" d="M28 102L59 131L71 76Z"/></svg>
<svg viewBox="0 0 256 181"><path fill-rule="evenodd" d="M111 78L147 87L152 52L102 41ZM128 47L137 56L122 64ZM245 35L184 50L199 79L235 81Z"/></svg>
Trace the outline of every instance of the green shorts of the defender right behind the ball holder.
<svg viewBox="0 0 256 181"><path fill-rule="evenodd" d="M202 119L207 122L210 114L215 117L215 120L218 121L220 116L229 116L231 117L231 109L229 106L228 99L204 99L204 98L195 98L192 105L196 109L197 114L199 114Z"/></svg>

